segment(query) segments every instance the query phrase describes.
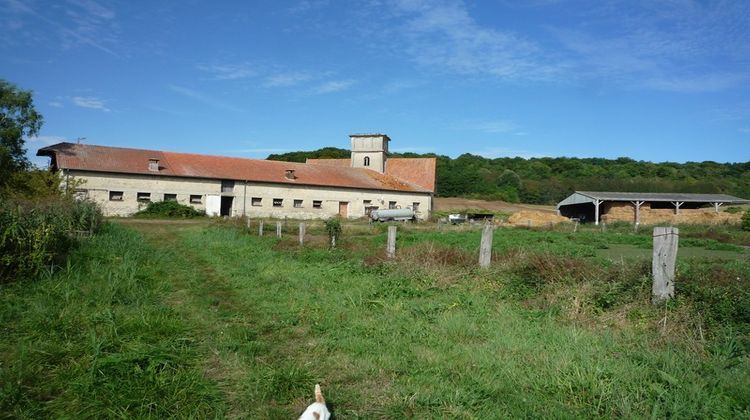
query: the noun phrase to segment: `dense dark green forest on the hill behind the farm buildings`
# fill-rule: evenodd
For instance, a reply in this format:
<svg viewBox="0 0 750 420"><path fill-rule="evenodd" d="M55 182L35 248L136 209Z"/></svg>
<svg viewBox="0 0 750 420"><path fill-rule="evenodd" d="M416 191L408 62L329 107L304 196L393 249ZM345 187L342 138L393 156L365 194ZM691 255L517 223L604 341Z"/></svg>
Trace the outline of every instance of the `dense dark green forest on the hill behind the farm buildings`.
<svg viewBox="0 0 750 420"><path fill-rule="evenodd" d="M391 157L436 157L440 197L471 197L555 204L575 190L722 193L750 198L750 162L652 163L630 158L496 158L392 153ZM349 151L326 147L273 154L269 160L348 158Z"/></svg>

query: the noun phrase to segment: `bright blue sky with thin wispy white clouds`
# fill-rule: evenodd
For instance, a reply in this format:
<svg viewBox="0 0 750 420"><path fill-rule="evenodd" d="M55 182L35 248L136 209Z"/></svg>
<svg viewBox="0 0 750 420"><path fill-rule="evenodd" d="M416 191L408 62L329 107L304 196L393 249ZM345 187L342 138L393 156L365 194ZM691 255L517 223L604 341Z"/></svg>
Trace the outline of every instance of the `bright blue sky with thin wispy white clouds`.
<svg viewBox="0 0 750 420"><path fill-rule="evenodd" d="M0 0L58 141L750 160L748 1Z"/></svg>

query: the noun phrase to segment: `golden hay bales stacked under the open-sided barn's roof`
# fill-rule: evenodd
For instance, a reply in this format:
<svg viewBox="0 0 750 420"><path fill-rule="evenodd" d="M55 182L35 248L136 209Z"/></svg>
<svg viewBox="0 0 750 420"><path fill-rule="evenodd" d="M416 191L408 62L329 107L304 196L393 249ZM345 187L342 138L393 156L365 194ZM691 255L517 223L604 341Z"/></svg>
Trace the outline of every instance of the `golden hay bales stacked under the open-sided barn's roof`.
<svg viewBox="0 0 750 420"><path fill-rule="evenodd" d="M635 206L631 203L607 203L606 214L602 215L602 221L612 222L635 222ZM740 213L716 213L713 209L680 209L680 214L675 214L674 209L652 209L646 203L641 206L641 224L654 225L658 223L669 224L724 224L740 223Z"/></svg>

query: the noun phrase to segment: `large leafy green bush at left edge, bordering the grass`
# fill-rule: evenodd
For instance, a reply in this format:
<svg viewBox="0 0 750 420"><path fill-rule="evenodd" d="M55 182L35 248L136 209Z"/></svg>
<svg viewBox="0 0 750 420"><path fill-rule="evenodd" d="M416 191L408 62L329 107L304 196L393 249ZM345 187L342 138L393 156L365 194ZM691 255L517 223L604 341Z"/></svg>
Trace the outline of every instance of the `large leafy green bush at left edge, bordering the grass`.
<svg viewBox="0 0 750 420"><path fill-rule="evenodd" d="M65 255L77 234L91 234L101 222L90 201L0 201L0 281L36 275Z"/></svg>

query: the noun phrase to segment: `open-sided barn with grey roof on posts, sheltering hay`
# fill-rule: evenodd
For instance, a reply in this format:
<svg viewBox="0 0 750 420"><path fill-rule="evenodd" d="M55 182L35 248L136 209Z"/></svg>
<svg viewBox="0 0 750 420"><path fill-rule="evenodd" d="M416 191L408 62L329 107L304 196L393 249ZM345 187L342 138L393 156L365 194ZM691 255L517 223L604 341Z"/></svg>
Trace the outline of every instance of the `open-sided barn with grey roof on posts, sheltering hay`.
<svg viewBox="0 0 750 420"><path fill-rule="evenodd" d="M694 222L701 218L722 222L728 220L718 216L722 206L748 203L726 194L576 191L557 204L557 212L597 225L600 221L651 224Z"/></svg>

